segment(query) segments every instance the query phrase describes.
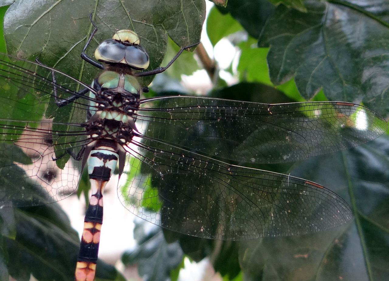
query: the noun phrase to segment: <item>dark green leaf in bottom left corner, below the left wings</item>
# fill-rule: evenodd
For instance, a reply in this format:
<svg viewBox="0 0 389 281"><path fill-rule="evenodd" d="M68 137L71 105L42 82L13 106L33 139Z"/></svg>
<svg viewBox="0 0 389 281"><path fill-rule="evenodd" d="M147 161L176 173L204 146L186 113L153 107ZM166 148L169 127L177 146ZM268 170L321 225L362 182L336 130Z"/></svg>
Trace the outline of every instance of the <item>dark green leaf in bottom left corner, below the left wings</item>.
<svg viewBox="0 0 389 281"><path fill-rule="evenodd" d="M28 280L30 274L38 280L72 280L79 238L59 205L13 209L16 237L3 236L9 274L18 280ZM111 265L99 260L98 278L114 280L117 274Z"/></svg>

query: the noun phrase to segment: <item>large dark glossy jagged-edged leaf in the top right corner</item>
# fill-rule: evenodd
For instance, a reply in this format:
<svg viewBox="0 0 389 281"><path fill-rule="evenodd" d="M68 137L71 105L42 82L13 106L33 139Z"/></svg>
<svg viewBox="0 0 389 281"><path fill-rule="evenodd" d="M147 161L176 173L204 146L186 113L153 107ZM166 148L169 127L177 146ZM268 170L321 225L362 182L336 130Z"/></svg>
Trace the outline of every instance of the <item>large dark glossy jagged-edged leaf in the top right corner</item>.
<svg viewBox="0 0 389 281"><path fill-rule="evenodd" d="M388 116L389 8L384 2L307 1L307 13L277 7L259 38L260 46L270 46L273 84L294 76L305 99L322 88L329 100L363 101Z"/></svg>

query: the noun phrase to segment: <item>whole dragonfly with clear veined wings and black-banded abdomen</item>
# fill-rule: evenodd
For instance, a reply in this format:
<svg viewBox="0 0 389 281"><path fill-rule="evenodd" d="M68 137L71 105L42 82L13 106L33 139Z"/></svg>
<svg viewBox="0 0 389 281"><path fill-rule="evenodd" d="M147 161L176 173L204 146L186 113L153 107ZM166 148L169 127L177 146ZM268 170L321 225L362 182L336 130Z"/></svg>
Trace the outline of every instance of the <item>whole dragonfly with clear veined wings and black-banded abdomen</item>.
<svg viewBox="0 0 389 281"><path fill-rule="evenodd" d="M302 178L249 168L355 147L387 128L373 110L348 102L263 104L198 96L141 98L149 56L119 30L81 58L102 72L85 84L39 61L0 54L2 207L69 196L87 169L92 195L75 280L93 280L103 190L115 169L125 208L191 236L245 240L337 227L352 211L331 190ZM57 82L60 81L60 82ZM4 181L4 179L2 179ZM39 194L39 196L37 195Z"/></svg>

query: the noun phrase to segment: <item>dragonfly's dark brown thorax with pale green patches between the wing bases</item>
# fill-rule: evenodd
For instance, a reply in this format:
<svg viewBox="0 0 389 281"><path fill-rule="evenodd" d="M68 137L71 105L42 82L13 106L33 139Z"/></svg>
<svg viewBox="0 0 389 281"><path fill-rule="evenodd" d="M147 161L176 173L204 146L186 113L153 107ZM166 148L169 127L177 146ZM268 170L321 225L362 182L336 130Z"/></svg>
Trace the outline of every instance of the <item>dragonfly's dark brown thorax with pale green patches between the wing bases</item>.
<svg viewBox="0 0 389 281"><path fill-rule="evenodd" d="M137 131L140 85L130 74L106 70L93 81L92 87L95 91L89 92L91 101L85 124L88 147L97 149L96 142L107 140L124 151ZM115 149L119 150L118 147Z"/></svg>

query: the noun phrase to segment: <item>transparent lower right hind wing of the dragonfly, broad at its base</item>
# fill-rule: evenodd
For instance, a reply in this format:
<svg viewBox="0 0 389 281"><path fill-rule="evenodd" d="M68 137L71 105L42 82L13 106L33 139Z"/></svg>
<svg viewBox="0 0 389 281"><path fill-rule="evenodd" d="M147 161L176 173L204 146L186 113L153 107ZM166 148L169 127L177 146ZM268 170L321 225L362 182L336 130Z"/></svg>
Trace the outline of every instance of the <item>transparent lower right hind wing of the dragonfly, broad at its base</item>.
<svg viewBox="0 0 389 281"><path fill-rule="evenodd" d="M325 230L352 217L342 198L317 183L226 164L156 140L134 144L128 148L135 157L131 172L120 191L123 205L161 227L245 240Z"/></svg>

